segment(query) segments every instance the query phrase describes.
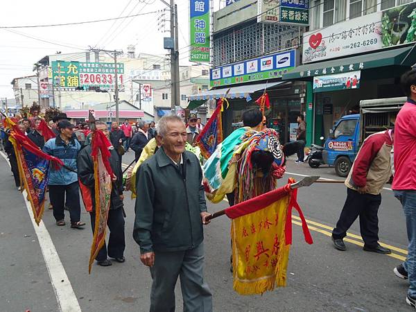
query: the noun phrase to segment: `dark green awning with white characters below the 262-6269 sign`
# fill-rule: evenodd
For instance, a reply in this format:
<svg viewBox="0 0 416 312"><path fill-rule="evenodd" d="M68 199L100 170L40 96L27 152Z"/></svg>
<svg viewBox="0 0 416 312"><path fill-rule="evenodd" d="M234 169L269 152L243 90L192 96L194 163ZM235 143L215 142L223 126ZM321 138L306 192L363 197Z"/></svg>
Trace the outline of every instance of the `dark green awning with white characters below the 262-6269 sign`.
<svg viewBox="0 0 416 312"><path fill-rule="evenodd" d="M309 80L312 79L313 76L330 75L331 73L345 73L348 71L359 71L394 65L411 67L416 62L416 49L410 51L411 49L411 46L406 46L404 48L356 55L349 58L329 60L314 64L304 64L300 67L296 67L293 71L284 73L282 79Z"/></svg>

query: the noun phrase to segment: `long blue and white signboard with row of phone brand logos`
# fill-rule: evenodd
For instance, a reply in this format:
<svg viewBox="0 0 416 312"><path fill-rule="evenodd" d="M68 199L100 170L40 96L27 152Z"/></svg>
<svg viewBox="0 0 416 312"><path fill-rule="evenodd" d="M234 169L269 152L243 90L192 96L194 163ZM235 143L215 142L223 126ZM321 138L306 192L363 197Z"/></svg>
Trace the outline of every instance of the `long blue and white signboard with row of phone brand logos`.
<svg viewBox="0 0 416 312"><path fill-rule="evenodd" d="M295 68L295 58L295 50L291 50L211 69L210 85L218 87L279 78Z"/></svg>

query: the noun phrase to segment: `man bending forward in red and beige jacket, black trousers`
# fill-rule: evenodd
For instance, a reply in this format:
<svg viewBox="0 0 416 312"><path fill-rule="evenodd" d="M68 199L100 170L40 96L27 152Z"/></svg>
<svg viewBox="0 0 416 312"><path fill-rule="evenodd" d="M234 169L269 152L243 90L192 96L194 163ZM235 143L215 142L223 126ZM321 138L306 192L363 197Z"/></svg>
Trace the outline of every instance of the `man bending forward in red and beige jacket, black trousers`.
<svg viewBox="0 0 416 312"><path fill-rule="evenodd" d="M347 230L360 216L360 232L363 237L363 250L390 254L391 250L379 244L379 218L377 212L381 204L381 190L392 175L390 153L393 147L394 130L386 130L370 135L363 142L345 185L347 199L336 227L332 231L332 241L338 250L346 250L343 239Z"/></svg>

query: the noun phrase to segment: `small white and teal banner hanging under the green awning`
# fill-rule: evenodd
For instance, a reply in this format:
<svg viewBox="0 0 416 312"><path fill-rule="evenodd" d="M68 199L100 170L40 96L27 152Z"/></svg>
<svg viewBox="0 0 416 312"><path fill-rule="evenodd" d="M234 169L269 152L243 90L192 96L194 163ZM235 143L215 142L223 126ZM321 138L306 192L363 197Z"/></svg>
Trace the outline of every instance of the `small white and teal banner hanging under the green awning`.
<svg viewBox="0 0 416 312"><path fill-rule="evenodd" d="M313 92L329 92L336 90L358 89L361 71L349 71L327 76L313 77Z"/></svg>

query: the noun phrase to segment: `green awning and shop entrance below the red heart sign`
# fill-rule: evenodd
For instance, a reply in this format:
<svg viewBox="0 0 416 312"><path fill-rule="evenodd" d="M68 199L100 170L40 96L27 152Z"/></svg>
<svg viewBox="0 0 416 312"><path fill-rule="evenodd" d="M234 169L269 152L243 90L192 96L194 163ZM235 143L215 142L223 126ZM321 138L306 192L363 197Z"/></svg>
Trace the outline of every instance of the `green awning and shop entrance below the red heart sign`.
<svg viewBox="0 0 416 312"><path fill-rule="evenodd" d="M359 112L361 100L403 96L400 76L416 63L416 49L401 46L376 53L304 64L283 80L306 81L308 144L322 144L341 116Z"/></svg>

